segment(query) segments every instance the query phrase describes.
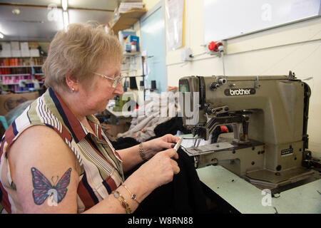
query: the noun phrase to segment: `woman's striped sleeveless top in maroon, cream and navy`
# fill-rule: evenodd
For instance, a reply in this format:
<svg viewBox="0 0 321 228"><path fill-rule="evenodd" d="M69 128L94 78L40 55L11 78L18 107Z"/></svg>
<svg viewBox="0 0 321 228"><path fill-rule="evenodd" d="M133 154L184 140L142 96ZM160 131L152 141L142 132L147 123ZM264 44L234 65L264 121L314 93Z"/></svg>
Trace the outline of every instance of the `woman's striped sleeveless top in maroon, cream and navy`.
<svg viewBox="0 0 321 228"><path fill-rule="evenodd" d="M93 207L121 185L124 181L121 157L101 130L98 120L93 115L88 115L87 119L96 135L86 130L51 88L16 118L0 144L1 213L22 213L6 152L19 135L33 125L54 129L76 155L81 167L77 190L78 212Z"/></svg>

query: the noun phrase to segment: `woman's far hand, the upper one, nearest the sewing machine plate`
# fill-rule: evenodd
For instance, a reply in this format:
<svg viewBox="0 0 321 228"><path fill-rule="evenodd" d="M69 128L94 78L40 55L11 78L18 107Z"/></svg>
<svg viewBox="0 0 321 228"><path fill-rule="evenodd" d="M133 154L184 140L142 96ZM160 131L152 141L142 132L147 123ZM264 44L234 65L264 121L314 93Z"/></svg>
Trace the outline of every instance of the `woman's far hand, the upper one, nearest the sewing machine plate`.
<svg viewBox="0 0 321 228"><path fill-rule="evenodd" d="M160 138L143 142L143 152L145 153L147 159L150 159L161 150L173 148L179 139L180 138L174 135L167 134Z"/></svg>

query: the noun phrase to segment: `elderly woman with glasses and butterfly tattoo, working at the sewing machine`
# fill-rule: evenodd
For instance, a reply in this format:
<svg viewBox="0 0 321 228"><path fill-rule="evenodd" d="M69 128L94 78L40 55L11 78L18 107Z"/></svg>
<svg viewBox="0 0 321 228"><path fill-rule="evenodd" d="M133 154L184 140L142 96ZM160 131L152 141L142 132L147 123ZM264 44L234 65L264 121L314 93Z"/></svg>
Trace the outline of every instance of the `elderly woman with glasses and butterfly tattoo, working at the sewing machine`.
<svg viewBox="0 0 321 228"><path fill-rule="evenodd" d="M5 212L131 213L180 172L177 137L116 151L93 116L123 94L121 53L101 26L71 24L56 33L43 66L48 90L1 140Z"/></svg>

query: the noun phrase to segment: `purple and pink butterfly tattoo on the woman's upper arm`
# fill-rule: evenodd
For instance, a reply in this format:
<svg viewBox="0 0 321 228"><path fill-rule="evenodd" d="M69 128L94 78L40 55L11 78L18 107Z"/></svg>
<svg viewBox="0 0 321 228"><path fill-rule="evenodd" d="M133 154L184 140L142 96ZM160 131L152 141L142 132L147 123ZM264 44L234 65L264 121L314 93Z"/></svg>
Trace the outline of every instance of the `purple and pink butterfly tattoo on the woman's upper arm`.
<svg viewBox="0 0 321 228"><path fill-rule="evenodd" d="M35 167L31 167L31 173L32 184L34 185L32 195L34 196L35 204L43 204L47 197L51 199L51 202L53 202L54 205L57 205L59 202L61 202L67 193L67 186L70 182L71 168L69 168L63 174L57 185L53 180L54 177L51 178L51 180L54 182L54 185L51 185L51 182ZM58 176L56 180L58 180ZM49 206L51 205L52 204L49 204Z"/></svg>

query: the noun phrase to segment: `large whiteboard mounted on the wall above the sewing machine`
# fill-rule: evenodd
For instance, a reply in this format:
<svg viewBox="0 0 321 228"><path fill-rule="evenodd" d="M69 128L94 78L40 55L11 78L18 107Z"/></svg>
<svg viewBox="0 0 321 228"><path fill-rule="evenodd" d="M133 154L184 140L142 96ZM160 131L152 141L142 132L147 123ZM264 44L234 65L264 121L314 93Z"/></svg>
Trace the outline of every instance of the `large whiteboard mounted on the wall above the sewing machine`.
<svg viewBox="0 0 321 228"><path fill-rule="evenodd" d="M320 16L321 0L203 0L204 42Z"/></svg>

